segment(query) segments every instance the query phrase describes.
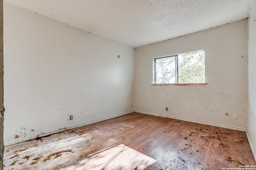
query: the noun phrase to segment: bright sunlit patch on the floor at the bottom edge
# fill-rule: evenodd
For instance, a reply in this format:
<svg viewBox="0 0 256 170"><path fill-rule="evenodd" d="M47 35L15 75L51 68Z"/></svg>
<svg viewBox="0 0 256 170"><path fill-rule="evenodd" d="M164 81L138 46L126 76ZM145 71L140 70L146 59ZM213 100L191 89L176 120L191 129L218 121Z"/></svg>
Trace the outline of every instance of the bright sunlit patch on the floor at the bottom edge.
<svg viewBox="0 0 256 170"><path fill-rule="evenodd" d="M62 170L143 170L155 162L155 159L120 144Z"/></svg>

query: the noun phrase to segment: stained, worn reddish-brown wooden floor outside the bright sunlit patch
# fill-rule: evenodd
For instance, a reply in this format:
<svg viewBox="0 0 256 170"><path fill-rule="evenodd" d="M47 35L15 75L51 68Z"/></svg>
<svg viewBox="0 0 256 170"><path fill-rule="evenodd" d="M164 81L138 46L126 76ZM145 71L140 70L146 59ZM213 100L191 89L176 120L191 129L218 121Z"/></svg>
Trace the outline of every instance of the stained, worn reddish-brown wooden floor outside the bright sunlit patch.
<svg viewBox="0 0 256 170"><path fill-rule="evenodd" d="M147 170L256 165L245 132L130 113L6 147L4 169L61 169L120 144L154 158Z"/></svg>

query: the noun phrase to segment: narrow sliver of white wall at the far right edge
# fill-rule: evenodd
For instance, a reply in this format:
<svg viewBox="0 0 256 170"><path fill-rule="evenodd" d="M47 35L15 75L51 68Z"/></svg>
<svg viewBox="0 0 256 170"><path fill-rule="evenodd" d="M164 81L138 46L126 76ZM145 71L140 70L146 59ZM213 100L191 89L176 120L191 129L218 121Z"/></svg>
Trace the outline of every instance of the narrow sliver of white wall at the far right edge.
<svg viewBox="0 0 256 170"><path fill-rule="evenodd" d="M249 17L248 39L248 122L247 133L249 134L251 147L256 159L256 1L252 5Z"/></svg>

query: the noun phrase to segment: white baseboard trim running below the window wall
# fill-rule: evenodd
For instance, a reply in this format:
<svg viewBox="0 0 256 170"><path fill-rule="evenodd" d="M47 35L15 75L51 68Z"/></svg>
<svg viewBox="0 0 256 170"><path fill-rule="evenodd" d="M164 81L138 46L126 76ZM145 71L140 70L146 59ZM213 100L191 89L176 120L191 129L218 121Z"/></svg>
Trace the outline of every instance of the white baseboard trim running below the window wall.
<svg viewBox="0 0 256 170"><path fill-rule="evenodd" d="M180 117L159 115L159 114L156 114L156 113L150 113L150 112L145 112L145 111L135 110L135 112L144 113L144 114L148 114L148 115L154 115L154 116L160 116L160 117L166 117L166 118L170 118L170 119L177 119L177 120L189 121L189 122L193 122L193 123L200 123L200 124L203 124L203 125L210 125L210 126L216 126L216 127L223 127L223 128L226 128L226 129L238 130L238 131L243 131L243 132L246 131L246 129L241 129L241 128L237 128L237 127L230 127L230 126L225 126L225 125L218 125L218 124L207 123L207 122L202 122L202 121L194 121L194 120L184 119L184 118L180 118Z"/></svg>

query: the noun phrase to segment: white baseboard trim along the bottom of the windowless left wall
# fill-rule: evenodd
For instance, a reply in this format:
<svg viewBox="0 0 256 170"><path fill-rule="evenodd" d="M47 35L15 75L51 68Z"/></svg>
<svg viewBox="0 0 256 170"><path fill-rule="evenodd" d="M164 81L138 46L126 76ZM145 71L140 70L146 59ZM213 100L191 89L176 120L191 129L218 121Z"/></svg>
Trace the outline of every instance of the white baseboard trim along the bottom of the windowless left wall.
<svg viewBox="0 0 256 170"><path fill-rule="evenodd" d="M71 126L71 127L65 127L65 128L62 128L62 129L58 129L58 130L56 130L56 131L52 131L52 132L48 132L48 133L42 133L42 134L38 135L38 137L44 137L44 136L52 135L52 134L54 134L54 133L58 133L58 132L62 132L62 131L70 130L70 129L74 129L74 128L77 128L77 127L82 127L82 126L85 126L85 125L90 125L90 124L92 124L92 123L97 123L97 122L99 122L99 121L104 121L104 120L107 120L107 119L112 119L112 118L114 118L114 117L126 115L126 114L133 113L133 112L134 112L134 110L133 110L133 111L124 112L124 113L120 113L120 114L118 114L118 115L106 117L106 118L103 118L103 119L98 119L98 120L96 120L96 121L91 121L91 122L84 123L84 124L81 124L81 125L76 125L76 126Z"/></svg>

